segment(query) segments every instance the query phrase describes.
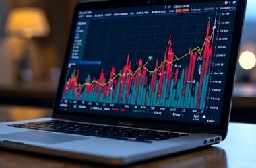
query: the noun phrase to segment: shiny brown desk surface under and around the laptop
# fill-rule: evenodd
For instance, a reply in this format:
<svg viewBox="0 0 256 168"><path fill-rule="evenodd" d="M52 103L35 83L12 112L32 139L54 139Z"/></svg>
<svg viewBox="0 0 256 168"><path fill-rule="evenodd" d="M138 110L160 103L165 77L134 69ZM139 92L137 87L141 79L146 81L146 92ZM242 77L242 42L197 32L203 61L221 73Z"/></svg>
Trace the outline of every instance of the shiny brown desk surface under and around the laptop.
<svg viewBox="0 0 256 168"><path fill-rule="evenodd" d="M0 122L51 116L47 108L0 106ZM131 167L255 167L256 124L230 123L228 136L207 149L168 155ZM0 167L98 167L93 163L74 161L34 153L0 149Z"/></svg>

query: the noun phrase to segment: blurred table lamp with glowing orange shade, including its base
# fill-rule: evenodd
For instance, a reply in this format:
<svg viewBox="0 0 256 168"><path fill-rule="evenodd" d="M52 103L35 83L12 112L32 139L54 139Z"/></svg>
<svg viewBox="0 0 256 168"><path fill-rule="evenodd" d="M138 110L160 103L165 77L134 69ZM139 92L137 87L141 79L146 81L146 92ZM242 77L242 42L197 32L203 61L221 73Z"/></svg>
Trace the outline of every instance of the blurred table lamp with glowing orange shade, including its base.
<svg viewBox="0 0 256 168"><path fill-rule="evenodd" d="M18 72L16 75L18 79L20 81L32 81L34 72L31 69L31 60L33 60L30 56L30 50L32 49L31 39L33 37L47 36L50 33L50 26L44 11L36 7L12 9L7 17L5 32L9 36L20 38L22 42L21 54L17 56ZM37 66L34 67L39 69Z"/></svg>

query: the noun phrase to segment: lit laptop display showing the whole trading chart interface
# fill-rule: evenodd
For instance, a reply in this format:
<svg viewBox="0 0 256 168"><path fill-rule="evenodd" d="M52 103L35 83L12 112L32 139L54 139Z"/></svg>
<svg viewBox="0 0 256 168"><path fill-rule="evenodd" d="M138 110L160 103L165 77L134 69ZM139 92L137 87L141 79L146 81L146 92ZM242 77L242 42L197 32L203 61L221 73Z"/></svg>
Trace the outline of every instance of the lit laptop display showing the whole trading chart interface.
<svg viewBox="0 0 256 168"><path fill-rule="evenodd" d="M236 3L79 11L59 110L219 124Z"/></svg>

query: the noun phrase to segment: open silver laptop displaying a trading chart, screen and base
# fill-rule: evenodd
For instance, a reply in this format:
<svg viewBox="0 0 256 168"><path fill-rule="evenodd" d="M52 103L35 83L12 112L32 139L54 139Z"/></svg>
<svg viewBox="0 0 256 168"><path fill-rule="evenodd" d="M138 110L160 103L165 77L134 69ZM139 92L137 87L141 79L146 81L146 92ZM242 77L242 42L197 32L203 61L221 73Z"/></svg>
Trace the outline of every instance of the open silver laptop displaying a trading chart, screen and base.
<svg viewBox="0 0 256 168"><path fill-rule="evenodd" d="M51 118L0 146L127 165L226 138L245 0L81 2Z"/></svg>

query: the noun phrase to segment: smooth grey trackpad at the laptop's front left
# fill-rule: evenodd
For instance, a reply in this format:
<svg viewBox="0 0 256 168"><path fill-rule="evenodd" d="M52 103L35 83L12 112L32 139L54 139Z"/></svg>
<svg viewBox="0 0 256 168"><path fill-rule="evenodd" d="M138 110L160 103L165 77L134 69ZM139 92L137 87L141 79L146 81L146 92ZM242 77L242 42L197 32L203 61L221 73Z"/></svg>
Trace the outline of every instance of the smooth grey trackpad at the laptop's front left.
<svg viewBox="0 0 256 168"><path fill-rule="evenodd" d="M74 140L83 140L84 137L65 135L65 134L55 134L51 132L40 132L40 131L26 131L17 132L11 134L1 134L0 138L8 138L12 140L26 140L30 142L39 142L45 144L56 144L63 142L70 142Z"/></svg>

